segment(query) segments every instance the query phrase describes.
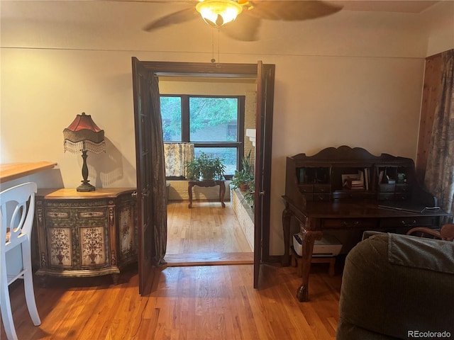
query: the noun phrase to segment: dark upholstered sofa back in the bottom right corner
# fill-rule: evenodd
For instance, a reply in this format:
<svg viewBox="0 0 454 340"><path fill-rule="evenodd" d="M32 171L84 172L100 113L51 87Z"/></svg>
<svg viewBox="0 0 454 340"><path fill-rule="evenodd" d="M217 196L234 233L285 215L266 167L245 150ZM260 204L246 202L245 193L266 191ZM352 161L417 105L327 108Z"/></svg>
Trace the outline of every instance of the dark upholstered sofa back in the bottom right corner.
<svg viewBox="0 0 454 340"><path fill-rule="evenodd" d="M454 339L454 242L366 236L345 259L336 339Z"/></svg>

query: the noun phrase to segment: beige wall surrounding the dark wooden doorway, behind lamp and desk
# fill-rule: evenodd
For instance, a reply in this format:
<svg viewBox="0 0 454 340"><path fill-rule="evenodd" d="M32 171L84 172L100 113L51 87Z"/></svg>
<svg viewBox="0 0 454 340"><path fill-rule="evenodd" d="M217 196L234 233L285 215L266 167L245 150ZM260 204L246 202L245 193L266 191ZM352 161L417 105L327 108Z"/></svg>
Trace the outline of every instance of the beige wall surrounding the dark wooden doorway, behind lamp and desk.
<svg viewBox="0 0 454 340"><path fill-rule="evenodd" d="M171 9L1 1L1 162L58 162L31 177L41 188L79 185L82 157L63 152L62 130L84 111L107 142L105 154L89 153L89 179L135 186L131 57L212 57L211 30L198 21L141 31ZM454 47L452 1L436 10L431 20L429 12L341 11L302 23L264 21L258 42L220 35L216 60L276 65L270 254L283 252L285 157L339 145L415 157L424 58Z"/></svg>

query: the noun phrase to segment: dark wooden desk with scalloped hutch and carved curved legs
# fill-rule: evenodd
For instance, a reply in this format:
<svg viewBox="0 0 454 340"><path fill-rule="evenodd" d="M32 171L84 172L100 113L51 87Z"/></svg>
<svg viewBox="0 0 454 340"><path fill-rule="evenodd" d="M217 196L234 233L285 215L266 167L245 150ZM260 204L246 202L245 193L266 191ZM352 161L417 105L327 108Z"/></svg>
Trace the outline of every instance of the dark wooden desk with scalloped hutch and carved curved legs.
<svg viewBox="0 0 454 340"><path fill-rule="evenodd" d="M449 215L437 209L436 198L419 186L413 160L390 154L377 157L359 147L329 147L310 157L287 157L282 197L284 266L290 263L292 219L303 234L299 301L309 298L314 241L324 231L436 228L440 217Z"/></svg>

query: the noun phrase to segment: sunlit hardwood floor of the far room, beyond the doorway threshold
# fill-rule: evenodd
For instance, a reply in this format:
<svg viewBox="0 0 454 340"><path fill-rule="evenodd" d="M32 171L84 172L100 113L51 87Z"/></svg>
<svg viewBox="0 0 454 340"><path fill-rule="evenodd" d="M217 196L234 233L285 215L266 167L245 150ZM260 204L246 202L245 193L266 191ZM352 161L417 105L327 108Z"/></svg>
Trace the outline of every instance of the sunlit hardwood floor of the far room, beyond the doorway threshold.
<svg viewBox="0 0 454 340"><path fill-rule="evenodd" d="M167 205L169 266L253 263L253 250L236 219L231 202L170 201Z"/></svg>

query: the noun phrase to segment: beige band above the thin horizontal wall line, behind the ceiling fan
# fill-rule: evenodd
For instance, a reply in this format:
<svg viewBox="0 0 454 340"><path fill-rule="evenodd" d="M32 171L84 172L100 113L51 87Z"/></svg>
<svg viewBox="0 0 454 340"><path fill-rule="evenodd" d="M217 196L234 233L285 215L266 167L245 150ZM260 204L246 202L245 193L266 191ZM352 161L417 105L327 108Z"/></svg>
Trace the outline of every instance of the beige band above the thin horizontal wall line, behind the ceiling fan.
<svg viewBox="0 0 454 340"><path fill-rule="evenodd" d="M323 54L333 50L333 46L339 46L338 41L343 41L339 47L341 51L330 53L348 51L362 55L366 53L363 42L375 40L373 48L378 51L369 51L368 55L382 55L383 45L392 45L392 50L397 52L412 51L405 55L421 55L418 41L423 30L428 24L442 22L439 16L449 16L450 8L454 8L448 6L445 10L445 6L441 6L443 13L436 11L436 20L432 20L433 8L438 7L434 4L454 4L454 0L327 1L341 4L343 10L320 20L301 23L264 20L258 41L240 42L223 34L221 38L213 38L213 30L201 20L166 26L153 33L143 30L150 21L187 8L196 0L0 0L0 47L155 51L168 55L170 52L213 52L219 45L214 46L212 42L221 41L224 51L266 55L276 51L280 54ZM431 11L425 11L428 6L433 6ZM390 35L392 39L389 39ZM358 50L350 45L357 46Z"/></svg>

